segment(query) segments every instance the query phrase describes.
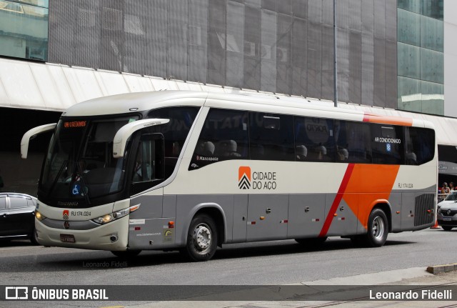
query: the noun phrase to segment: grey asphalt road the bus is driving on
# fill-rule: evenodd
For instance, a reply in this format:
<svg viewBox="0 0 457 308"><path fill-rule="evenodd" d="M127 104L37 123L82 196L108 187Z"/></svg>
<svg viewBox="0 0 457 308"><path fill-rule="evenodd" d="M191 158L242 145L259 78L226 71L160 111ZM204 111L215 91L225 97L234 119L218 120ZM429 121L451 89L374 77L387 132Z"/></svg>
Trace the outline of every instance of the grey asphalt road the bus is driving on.
<svg viewBox="0 0 457 308"><path fill-rule="evenodd" d="M1 284L293 284L393 269L457 262L457 229L389 234L380 248L353 247L332 237L318 249L293 240L228 244L209 262L178 252L141 252L121 260L111 252L0 242Z"/></svg>

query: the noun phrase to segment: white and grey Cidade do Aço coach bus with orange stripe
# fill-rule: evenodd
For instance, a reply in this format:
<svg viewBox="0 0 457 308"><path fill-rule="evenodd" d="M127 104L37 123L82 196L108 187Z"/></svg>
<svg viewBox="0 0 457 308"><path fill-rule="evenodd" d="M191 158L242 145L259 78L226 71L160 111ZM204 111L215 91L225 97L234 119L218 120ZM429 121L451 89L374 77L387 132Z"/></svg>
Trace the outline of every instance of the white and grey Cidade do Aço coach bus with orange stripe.
<svg viewBox="0 0 457 308"><path fill-rule="evenodd" d="M46 246L134 256L179 249L194 261L222 244L348 237L435 222L437 146L416 119L306 99L158 91L92 99L53 131L38 187Z"/></svg>

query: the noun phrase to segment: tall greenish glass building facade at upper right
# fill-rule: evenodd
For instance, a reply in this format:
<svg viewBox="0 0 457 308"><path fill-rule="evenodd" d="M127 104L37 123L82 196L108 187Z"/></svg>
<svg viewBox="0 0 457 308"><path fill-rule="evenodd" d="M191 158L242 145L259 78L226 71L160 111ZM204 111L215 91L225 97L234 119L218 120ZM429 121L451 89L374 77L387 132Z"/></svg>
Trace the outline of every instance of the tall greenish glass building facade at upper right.
<svg viewBox="0 0 457 308"><path fill-rule="evenodd" d="M443 0L398 0L398 109L444 114Z"/></svg>

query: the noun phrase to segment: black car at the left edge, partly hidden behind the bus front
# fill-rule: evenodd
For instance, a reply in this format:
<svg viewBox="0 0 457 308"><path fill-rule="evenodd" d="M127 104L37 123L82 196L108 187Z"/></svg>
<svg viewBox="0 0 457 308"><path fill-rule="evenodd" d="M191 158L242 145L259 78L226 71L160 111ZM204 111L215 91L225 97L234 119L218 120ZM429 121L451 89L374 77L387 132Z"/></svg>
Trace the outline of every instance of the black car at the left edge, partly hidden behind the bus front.
<svg viewBox="0 0 457 308"><path fill-rule="evenodd" d="M28 194L0 193L0 240L30 239L35 232L36 198Z"/></svg>

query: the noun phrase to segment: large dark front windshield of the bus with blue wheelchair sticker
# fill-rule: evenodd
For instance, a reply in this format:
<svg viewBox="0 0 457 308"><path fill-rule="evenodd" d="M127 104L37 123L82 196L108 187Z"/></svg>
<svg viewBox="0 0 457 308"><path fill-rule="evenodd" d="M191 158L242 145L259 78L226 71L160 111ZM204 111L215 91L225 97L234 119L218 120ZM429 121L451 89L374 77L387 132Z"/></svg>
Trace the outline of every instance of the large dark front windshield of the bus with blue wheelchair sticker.
<svg viewBox="0 0 457 308"><path fill-rule="evenodd" d="M137 119L61 119L44 162L39 194L89 205L91 199L119 192L124 158L113 158L113 139L116 131Z"/></svg>

